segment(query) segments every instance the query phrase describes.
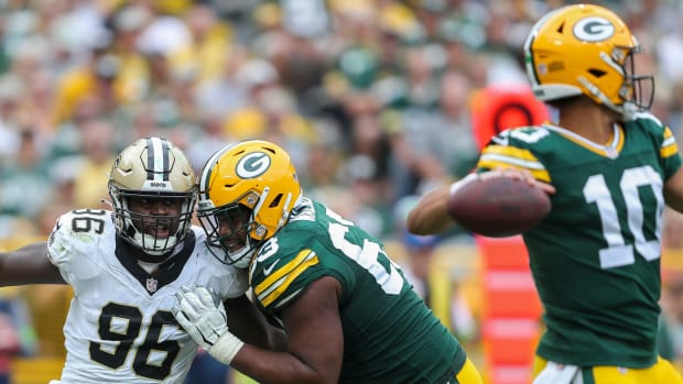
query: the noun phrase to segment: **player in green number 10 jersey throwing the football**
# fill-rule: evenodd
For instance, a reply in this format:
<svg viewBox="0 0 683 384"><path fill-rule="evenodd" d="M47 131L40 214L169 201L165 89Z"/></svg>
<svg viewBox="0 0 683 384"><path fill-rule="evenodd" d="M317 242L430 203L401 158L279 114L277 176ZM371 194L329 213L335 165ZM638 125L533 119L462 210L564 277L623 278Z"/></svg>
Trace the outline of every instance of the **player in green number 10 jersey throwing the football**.
<svg viewBox="0 0 683 384"><path fill-rule="evenodd" d="M610 10L551 11L524 54L555 124L492 138L476 173L409 213L412 232L445 230L449 193L485 172L552 193L550 213L523 233L546 323L535 384L683 383L655 345L662 210L683 211L683 171L671 130L648 112L652 77L633 74L638 48Z"/></svg>

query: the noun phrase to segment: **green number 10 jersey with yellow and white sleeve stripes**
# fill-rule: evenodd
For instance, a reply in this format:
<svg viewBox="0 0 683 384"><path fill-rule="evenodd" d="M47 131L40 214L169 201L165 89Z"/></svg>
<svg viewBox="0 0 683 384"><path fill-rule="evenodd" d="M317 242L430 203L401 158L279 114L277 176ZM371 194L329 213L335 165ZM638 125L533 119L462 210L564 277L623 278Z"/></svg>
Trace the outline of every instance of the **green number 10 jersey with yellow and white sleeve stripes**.
<svg viewBox="0 0 683 384"><path fill-rule="evenodd" d="M548 327L550 361L647 367L657 360L663 184L681 166L669 128L649 113L606 145L554 125L494 138L478 171L529 169L552 184L552 210L523 234Z"/></svg>

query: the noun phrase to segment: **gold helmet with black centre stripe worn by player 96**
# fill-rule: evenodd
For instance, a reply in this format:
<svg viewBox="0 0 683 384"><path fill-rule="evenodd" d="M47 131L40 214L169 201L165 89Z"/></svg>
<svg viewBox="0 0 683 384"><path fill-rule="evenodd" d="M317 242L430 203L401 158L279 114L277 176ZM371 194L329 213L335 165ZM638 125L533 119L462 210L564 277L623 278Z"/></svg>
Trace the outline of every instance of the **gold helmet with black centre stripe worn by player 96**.
<svg viewBox="0 0 683 384"><path fill-rule="evenodd" d="M109 174L117 234L144 252L138 254L142 261L162 261L160 256L181 243L191 228L196 191L194 171L181 150L160 138L135 141L121 151ZM137 212L130 209L132 199L178 204L180 213Z"/></svg>

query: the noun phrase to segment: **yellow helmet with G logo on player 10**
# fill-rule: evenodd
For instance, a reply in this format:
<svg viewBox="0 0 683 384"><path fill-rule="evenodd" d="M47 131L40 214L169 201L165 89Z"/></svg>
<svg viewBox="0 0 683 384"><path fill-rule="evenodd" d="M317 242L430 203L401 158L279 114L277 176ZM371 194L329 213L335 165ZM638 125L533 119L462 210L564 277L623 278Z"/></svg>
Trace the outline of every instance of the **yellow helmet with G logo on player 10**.
<svg viewBox="0 0 683 384"><path fill-rule="evenodd" d="M652 76L635 76L636 37L612 11L595 4L559 8L543 17L524 43L527 75L542 101L586 95L625 120L648 110ZM649 94L649 95L648 95Z"/></svg>

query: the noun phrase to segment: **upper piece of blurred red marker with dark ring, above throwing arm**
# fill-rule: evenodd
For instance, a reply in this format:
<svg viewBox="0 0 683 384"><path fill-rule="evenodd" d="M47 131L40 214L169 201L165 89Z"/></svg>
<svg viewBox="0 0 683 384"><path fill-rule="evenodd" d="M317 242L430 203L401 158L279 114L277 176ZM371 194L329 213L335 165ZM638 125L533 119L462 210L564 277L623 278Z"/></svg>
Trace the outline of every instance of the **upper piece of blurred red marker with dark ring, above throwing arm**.
<svg viewBox="0 0 683 384"><path fill-rule="evenodd" d="M548 107L525 85L489 86L473 96L471 127L479 150L508 128L538 125L549 119Z"/></svg>

